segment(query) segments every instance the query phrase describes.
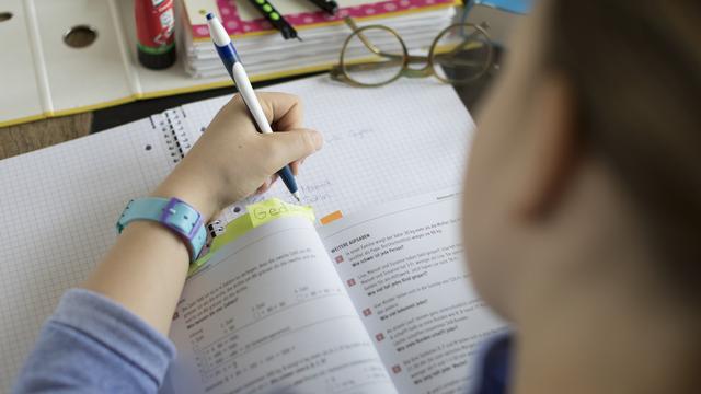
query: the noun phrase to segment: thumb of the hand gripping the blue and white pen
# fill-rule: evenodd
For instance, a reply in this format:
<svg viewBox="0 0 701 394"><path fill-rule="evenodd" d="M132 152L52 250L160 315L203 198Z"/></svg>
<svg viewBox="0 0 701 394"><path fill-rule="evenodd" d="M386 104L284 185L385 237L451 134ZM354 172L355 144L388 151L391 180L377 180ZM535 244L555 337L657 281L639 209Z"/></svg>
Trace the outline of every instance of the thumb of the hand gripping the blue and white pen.
<svg viewBox="0 0 701 394"><path fill-rule="evenodd" d="M277 169L306 158L320 150L323 137L319 131L310 129L292 129L263 135L271 144L273 157L271 160Z"/></svg>

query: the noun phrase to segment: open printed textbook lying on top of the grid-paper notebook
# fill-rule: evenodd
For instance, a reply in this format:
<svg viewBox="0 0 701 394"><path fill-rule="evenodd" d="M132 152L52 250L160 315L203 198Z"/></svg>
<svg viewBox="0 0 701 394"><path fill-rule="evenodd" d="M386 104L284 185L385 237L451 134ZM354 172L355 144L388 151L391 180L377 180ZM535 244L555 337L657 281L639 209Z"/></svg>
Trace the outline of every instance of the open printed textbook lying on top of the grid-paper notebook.
<svg viewBox="0 0 701 394"><path fill-rule="evenodd" d="M177 393L466 393L504 329L469 285L460 194L314 228L280 218L219 248L173 318Z"/></svg>

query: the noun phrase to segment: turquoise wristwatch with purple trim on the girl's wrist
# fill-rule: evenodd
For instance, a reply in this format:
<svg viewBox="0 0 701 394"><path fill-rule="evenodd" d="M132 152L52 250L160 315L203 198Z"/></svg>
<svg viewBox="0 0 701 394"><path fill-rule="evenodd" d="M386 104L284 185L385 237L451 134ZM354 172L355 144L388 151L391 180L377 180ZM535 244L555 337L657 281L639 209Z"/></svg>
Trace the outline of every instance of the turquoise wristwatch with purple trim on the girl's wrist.
<svg viewBox="0 0 701 394"><path fill-rule="evenodd" d="M197 259L207 241L202 215L179 198L147 197L130 200L117 220L117 232L122 233L135 220L159 222L175 232L187 245L191 262Z"/></svg>

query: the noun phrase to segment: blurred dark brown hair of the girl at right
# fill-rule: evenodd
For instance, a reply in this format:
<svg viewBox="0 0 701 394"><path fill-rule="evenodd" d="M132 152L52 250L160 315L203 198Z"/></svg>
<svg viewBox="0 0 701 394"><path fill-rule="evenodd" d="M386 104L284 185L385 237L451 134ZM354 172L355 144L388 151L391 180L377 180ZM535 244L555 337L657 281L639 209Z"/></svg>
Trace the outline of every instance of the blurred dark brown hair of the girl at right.
<svg viewBox="0 0 701 394"><path fill-rule="evenodd" d="M701 299L701 1L553 0L545 58L585 149L647 221L660 274Z"/></svg>

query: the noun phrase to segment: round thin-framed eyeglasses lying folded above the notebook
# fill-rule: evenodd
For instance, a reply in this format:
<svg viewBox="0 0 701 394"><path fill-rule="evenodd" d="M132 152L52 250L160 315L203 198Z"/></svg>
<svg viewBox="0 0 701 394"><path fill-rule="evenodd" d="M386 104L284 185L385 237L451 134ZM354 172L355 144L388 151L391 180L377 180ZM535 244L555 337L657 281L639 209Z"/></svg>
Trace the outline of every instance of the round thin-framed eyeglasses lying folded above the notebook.
<svg viewBox="0 0 701 394"><path fill-rule="evenodd" d="M494 58L486 24L452 24L434 38L427 56L416 56L409 54L404 39L388 26L358 27L350 18L344 21L353 33L343 43L331 78L355 86L381 86L400 77L430 76L446 83L468 84L480 79ZM424 66L410 67L414 63Z"/></svg>

